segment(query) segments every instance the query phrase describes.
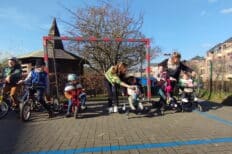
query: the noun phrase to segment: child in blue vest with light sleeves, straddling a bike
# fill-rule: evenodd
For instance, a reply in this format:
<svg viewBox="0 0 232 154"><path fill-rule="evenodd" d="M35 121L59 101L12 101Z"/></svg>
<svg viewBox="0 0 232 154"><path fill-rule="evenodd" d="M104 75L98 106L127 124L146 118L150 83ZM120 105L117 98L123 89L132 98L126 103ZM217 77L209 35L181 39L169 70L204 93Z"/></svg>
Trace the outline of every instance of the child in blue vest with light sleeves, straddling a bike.
<svg viewBox="0 0 232 154"><path fill-rule="evenodd" d="M27 75L24 80L20 80L18 84L25 83L35 86L35 92L37 92L37 100L43 105L43 107L48 111L49 118L53 116L52 109L50 105L45 102L45 94L49 94L49 79L48 74L44 70L45 63L42 59L36 60L35 69Z"/></svg>

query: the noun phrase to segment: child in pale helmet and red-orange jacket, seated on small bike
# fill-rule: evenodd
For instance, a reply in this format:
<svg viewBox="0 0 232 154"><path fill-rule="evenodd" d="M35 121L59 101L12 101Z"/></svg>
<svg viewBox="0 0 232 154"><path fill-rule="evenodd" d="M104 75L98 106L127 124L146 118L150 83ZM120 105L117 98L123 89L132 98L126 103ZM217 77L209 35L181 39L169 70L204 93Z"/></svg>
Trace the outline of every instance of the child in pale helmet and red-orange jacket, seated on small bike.
<svg viewBox="0 0 232 154"><path fill-rule="evenodd" d="M66 117L71 116L71 106L73 103L80 104L79 96L82 92L82 88L78 83L78 77L76 74L68 74L68 83L64 88L64 95L68 99L68 109Z"/></svg>

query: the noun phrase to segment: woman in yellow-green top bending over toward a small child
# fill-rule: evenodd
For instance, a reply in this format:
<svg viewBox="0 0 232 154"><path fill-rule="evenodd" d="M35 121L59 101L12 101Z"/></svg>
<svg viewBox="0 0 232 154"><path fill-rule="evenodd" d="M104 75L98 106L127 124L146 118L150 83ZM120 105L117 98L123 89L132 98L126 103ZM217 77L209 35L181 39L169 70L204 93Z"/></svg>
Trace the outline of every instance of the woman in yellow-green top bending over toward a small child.
<svg viewBox="0 0 232 154"><path fill-rule="evenodd" d="M127 64L118 63L117 65L111 66L105 73L105 86L108 92L108 107L109 113L117 112L117 86L134 89L134 86L130 86L122 81L122 76L126 74ZM113 108L114 104L114 108Z"/></svg>

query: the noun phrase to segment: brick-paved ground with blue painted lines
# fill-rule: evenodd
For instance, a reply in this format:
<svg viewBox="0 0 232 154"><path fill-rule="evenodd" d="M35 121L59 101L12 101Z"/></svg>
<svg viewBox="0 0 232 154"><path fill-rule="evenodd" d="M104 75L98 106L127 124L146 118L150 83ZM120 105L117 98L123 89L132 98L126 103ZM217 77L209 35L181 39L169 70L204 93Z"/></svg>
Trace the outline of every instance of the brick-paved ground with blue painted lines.
<svg viewBox="0 0 232 154"><path fill-rule="evenodd" d="M79 119L36 113L22 123L0 120L0 154L10 153L232 153L232 107L202 102L206 112L112 114L88 102Z"/></svg>

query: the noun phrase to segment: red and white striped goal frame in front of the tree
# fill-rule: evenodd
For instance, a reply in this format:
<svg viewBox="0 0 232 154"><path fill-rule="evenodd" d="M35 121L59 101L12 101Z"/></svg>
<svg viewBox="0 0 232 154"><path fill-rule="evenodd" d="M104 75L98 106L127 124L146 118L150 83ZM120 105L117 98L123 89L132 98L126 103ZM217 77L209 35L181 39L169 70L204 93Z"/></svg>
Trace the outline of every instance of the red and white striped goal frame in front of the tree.
<svg viewBox="0 0 232 154"><path fill-rule="evenodd" d="M89 37L89 38L84 38L84 37L67 37L67 36L61 36L61 37L56 37L56 36L44 36L43 37L43 47L44 47L44 62L46 64L45 70L49 73L49 63L48 63L48 49L47 49L47 43L48 41L53 41L53 40L69 40L69 41L77 41L77 42L141 42L144 43L145 49L146 49L146 78L147 78L147 99L148 101L151 100L151 80L150 80L150 60L151 60L151 55L150 55L150 39L148 38L143 38L143 39L134 39L134 38L96 38L96 37ZM53 57L55 58L55 57ZM56 69L54 70L56 73ZM57 78L56 78L57 80ZM57 82L57 81L56 81Z"/></svg>

